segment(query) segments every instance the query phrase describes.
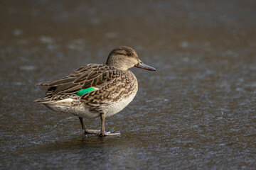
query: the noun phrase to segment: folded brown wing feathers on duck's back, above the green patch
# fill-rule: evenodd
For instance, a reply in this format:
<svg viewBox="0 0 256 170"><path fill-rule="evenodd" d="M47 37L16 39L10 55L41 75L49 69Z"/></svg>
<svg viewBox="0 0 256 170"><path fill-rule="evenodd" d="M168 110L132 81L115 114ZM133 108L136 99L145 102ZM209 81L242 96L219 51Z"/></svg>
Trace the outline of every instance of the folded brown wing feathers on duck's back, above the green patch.
<svg viewBox="0 0 256 170"><path fill-rule="evenodd" d="M48 86L46 91L51 95L73 94L81 89L97 87L107 81L122 77L122 72L105 64L86 64L70 73L67 77L55 81L47 81L36 86Z"/></svg>

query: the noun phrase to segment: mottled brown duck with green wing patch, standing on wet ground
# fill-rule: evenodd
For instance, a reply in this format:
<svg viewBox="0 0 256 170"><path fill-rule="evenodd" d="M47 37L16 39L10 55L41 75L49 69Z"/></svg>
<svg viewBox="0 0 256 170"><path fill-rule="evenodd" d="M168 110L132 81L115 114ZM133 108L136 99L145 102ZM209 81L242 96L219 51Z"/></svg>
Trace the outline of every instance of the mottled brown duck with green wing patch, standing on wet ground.
<svg viewBox="0 0 256 170"><path fill-rule="evenodd" d="M78 116L84 134L118 135L105 132L105 117L127 106L137 94L138 82L129 68L155 71L144 64L131 47L114 48L106 64L85 64L67 77L36 84L46 86L46 96L36 100L57 112ZM82 118L98 118L101 130L88 130Z"/></svg>

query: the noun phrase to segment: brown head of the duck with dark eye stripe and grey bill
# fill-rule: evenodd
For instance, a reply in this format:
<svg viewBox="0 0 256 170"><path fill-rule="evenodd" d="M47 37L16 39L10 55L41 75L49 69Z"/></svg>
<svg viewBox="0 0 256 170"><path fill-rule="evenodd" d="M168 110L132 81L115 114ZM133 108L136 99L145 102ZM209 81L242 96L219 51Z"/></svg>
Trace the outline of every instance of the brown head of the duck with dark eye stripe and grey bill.
<svg viewBox="0 0 256 170"><path fill-rule="evenodd" d="M117 69L127 70L132 67L156 71L153 67L144 64L135 50L131 47L119 46L114 48L107 57L107 65L117 67Z"/></svg>

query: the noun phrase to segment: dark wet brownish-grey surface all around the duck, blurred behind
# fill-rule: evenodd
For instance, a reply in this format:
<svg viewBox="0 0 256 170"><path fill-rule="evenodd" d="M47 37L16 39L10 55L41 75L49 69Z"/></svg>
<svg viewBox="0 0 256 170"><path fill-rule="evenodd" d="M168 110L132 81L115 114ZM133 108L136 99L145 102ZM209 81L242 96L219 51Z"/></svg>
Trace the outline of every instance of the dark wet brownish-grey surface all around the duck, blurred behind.
<svg viewBox="0 0 256 170"><path fill-rule="evenodd" d="M256 1L0 1L0 169L255 169ZM133 47L134 101L83 137L34 86ZM86 120L100 128L100 120Z"/></svg>

